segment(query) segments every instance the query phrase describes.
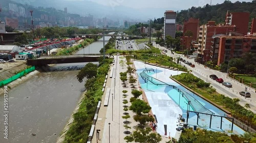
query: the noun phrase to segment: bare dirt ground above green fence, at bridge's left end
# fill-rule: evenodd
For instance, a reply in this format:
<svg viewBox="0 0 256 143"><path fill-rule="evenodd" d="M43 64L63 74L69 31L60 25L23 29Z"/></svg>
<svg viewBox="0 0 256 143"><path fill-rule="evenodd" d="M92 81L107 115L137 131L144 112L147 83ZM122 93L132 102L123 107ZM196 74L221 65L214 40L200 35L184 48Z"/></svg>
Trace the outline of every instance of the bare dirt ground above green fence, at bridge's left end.
<svg viewBox="0 0 256 143"><path fill-rule="evenodd" d="M14 59L13 59L14 60ZM18 73L20 70L27 68L26 61L14 60L15 62L0 63L0 81L10 78L11 76Z"/></svg>

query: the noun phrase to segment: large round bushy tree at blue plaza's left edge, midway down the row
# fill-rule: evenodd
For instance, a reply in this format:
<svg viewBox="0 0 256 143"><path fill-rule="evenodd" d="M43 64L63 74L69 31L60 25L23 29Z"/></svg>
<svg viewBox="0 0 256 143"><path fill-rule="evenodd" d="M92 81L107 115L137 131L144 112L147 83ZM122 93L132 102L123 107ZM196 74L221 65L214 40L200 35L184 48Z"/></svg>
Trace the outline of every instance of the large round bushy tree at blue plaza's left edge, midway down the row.
<svg viewBox="0 0 256 143"><path fill-rule="evenodd" d="M151 106L147 105L147 103L143 100L136 99L132 102L130 106L130 110L137 113L137 115L142 116L142 113L148 113L151 110Z"/></svg>

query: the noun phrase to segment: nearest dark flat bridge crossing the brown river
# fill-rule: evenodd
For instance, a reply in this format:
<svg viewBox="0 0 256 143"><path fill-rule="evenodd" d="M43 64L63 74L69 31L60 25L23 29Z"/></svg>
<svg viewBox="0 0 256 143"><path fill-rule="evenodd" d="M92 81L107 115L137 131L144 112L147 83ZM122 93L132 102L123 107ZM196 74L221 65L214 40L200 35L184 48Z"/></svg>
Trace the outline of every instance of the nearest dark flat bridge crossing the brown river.
<svg viewBox="0 0 256 143"><path fill-rule="evenodd" d="M103 58L103 55L46 56L44 58L29 59L27 60L27 65L44 66L50 64L98 62L101 57ZM109 56L105 55L105 58L109 58Z"/></svg>

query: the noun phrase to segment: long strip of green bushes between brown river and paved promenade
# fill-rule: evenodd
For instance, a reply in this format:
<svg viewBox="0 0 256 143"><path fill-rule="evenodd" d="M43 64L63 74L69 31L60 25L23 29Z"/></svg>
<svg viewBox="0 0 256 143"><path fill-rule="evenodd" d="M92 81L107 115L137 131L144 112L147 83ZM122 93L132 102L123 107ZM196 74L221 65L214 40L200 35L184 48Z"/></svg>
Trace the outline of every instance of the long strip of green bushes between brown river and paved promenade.
<svg viewBox="0 0 256 143"><path fill-rule="evenodd" d="M101 100L103 95L101 90L105 75L108 74L112 61L112 59L107 59L105 64L100 62L97 68L97 76L92 78L93 84L87 87L87 92L82 99L79 110L73 115L74 122L68 130L64 142L87 142L98 101Z"/></svg>

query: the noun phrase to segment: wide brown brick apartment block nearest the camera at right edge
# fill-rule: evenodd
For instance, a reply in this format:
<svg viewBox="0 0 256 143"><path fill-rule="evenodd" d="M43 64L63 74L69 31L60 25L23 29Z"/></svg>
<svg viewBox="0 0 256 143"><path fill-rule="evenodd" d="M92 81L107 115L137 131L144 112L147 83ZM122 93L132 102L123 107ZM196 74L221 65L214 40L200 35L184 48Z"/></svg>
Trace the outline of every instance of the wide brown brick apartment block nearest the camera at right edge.
<svg viewBox="0 0 256 143"><path fill-rule="evenodd" d="M256 53L256 36L223 36L220 37L217 65L231 58L241 58L244 52Z"/></svg>

